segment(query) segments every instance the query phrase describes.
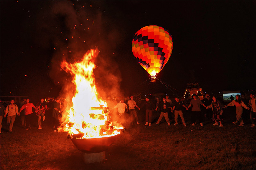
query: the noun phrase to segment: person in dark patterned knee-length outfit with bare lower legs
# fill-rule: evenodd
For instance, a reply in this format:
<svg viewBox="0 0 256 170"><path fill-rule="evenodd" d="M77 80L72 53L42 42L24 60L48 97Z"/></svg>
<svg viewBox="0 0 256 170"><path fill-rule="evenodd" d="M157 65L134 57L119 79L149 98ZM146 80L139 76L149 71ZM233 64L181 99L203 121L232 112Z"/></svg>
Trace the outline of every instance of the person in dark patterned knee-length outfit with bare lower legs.
<svg viewBox="0 0 256 170"><path fill-rule="evenodd" d="M221 115L222 115L222 108L221 107L225 107L222 103L220 103L217 100L217 96L213 95L212 96L212 103L206 107L206 109L208 108L212 108L212 120L215 121L215 123L213 124L213 126L219 125L219 123L217 121L220 122L220 126L219 127L223 127L222 123L221 123Z"/></svg>

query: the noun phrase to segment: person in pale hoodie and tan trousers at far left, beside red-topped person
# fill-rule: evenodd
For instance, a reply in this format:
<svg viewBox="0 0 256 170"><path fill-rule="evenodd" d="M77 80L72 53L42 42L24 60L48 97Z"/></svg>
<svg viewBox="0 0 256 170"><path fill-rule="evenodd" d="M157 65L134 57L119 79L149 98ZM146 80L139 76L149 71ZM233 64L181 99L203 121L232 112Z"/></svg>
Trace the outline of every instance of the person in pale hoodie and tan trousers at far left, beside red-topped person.
<svg viewBox="0 0 256 170"><path fill-rule="evenodd" d="M9 127L9 132L12 132L13 123L16 118L16 114L18 115L18 106L14 104L14 100L11 100L11 104L6 107L6 115L7 115L7 124ZM6 117L5 115L5 117Z"/></svg>

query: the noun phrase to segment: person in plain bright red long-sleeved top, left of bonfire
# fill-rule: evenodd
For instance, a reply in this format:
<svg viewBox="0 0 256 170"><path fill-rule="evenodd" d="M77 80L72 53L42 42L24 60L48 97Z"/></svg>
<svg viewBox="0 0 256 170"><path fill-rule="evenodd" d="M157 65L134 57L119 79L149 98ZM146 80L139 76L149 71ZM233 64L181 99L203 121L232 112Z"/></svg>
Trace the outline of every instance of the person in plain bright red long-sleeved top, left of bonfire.
<svg viewBox="0 0 256 170"><path fill-rule="evenodd" d="M32 109L36 109L35 105L33 103L29 103L29 99L26 99L26 104L24 104L21 108L20 108L20 112L25 109L25 121L26 121L26 130L28 130L31 125L32 119L33 119L33 111ZM20 112L19 115L20 116Z"/></svg>

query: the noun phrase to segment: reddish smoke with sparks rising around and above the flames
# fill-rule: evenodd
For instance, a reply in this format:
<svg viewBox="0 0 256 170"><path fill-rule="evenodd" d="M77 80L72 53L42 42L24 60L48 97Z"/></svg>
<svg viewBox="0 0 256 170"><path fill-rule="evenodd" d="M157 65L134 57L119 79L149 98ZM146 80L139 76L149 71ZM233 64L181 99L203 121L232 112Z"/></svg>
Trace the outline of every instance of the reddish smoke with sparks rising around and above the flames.
<svg viewBox="0 0 256 170"><path fill-rule="evenodd" d="M72 76L60 69L61 62L76 62L96 47L100 51L94 70L99 95L102 98L122 95L121 74L115 62L121 33L112 20L88 1L53 1L39 13L37 39L41 40L42 48L52 50L49 75L56 85L62 86L60 97L70 97L67 95L75 92Z"/></svg>

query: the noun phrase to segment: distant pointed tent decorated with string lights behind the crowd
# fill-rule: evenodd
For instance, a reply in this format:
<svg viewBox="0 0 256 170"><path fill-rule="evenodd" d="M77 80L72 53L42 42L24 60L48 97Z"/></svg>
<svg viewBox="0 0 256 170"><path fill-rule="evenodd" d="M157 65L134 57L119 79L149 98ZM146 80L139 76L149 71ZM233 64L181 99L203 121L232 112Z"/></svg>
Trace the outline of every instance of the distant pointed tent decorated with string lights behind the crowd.
<svg viewBox="0 0 256 170"><path fill-rule="evenodd" d="M187 84L187 88L184 92L183 97L181 98L181 101L187 102L188 100L190 100L192 98L193 94L196 94L200 100L202 100L205 96L205 94L202 91L202 88L196 82L196 79L195 79L193 73L194 73L194 71L191 72L190 82Z"/></svg>

